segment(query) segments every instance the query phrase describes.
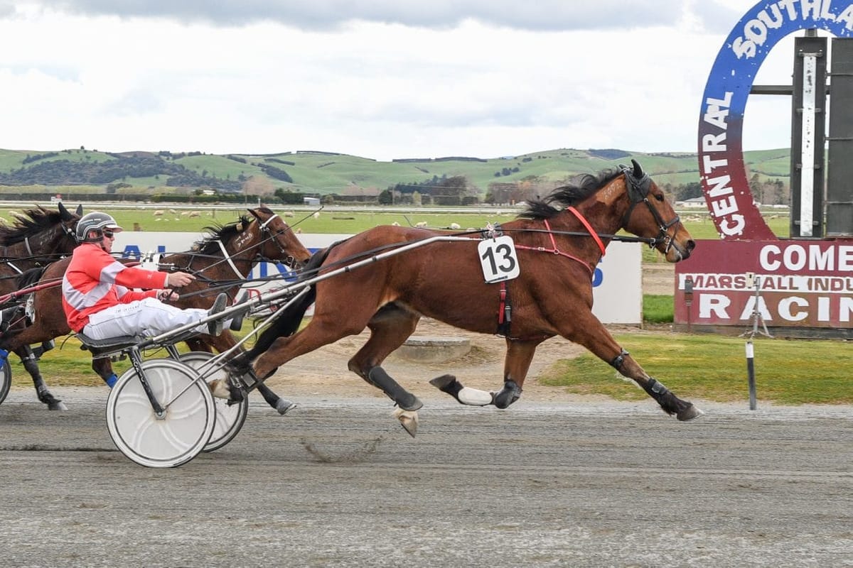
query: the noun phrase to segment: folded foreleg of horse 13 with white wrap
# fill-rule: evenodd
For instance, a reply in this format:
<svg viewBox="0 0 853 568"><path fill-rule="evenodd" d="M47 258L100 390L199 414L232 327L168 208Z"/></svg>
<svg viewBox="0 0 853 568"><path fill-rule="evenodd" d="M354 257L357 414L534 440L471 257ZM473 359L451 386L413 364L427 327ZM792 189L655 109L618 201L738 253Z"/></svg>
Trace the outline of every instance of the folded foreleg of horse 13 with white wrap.
<svg viewBox="0 0 853 568"><path fill-rule="evenodd" d="M507 339L507 354L503 360L503 387L496 393L487 393L478 388L464 387L455 376L443 375L430 381L433 387L450 394L461 404L485 406L494 404L504 409L521 397L521 387L530 370L533 355L542 340L519 341Z"/></svg>

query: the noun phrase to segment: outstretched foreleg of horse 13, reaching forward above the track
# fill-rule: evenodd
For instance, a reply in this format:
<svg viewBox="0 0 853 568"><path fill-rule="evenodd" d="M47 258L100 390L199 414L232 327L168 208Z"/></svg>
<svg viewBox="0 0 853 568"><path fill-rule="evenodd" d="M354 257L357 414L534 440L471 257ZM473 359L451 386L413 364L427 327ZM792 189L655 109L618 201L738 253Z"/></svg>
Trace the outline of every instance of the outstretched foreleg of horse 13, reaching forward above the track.
<svg viewBox="0 0 853 568"><path fill-rule="evenodd" d="M640 364L613 339L610 332L592 313L589 313L589 317L586 318L576 318L572 325L571 332L567 331L561 335L569 341L583 345L599 359L618 370L622 376L636 382L660 404L664 412L670 416L676 415L678 420L682 422L693 420L693 418L704 414L693 403L679 399L667 387L664 387L662 382L649 376Z"/></svg>

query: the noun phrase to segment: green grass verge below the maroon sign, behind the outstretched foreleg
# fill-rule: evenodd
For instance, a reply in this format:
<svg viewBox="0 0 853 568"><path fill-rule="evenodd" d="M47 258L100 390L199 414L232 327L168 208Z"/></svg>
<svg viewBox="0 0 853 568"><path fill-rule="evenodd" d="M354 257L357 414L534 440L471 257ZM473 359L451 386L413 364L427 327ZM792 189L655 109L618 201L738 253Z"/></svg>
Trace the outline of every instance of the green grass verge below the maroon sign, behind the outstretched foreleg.
<svg viewBox="0 0 853 568"><path fill-rule="evenodd" d="M682 399L748 400L746 340L740 337L629 333L616 340ZM853 381L845 341L756 338L757 399L773 404L853 404ZM560 359L539 382L568 393L644 400L612 367L591 353ZM631 382L631 384L634 384Z"/></svg>

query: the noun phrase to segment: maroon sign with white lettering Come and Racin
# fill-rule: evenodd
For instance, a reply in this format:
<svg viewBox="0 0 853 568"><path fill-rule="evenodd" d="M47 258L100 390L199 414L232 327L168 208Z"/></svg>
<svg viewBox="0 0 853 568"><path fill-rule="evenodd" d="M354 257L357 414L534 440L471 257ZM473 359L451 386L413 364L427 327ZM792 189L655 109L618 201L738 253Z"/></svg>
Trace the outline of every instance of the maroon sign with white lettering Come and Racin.
<svg viewBox="0 0 853 568"><path fill-rule="evenodd" d="M853 240L699 241L675 304L676 324L746 328L757 309L768 327L853 329Z"/></svg>

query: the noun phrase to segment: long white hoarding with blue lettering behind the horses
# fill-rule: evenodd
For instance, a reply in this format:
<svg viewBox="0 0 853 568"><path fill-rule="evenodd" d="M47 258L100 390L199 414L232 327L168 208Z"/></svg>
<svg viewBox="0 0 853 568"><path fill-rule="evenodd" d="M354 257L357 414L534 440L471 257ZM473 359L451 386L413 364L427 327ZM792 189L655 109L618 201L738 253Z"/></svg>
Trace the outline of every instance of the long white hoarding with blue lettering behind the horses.
<svg viewBox="0 0 853 568"><path fill-rule="evenodd" d="M148 252L169 254L189 250L202 238L196 232L132 232L116 234L114 252L129 258L140 258ZM311 252L349 238L345 234L300 234L299 240ZM406 254L406 253L403 253ZM543 252L543 255L549 253ZM554 262L575 262L557 255ZM611 243L593 275L593 313L605 324L642 323L642 254L641 244ZM366 268L369 270L369 268ZM522 271L524 267L520 268ZM281 264L262 263L252 268L249 278L266 278L281 274L293 276Z"/></svg>

